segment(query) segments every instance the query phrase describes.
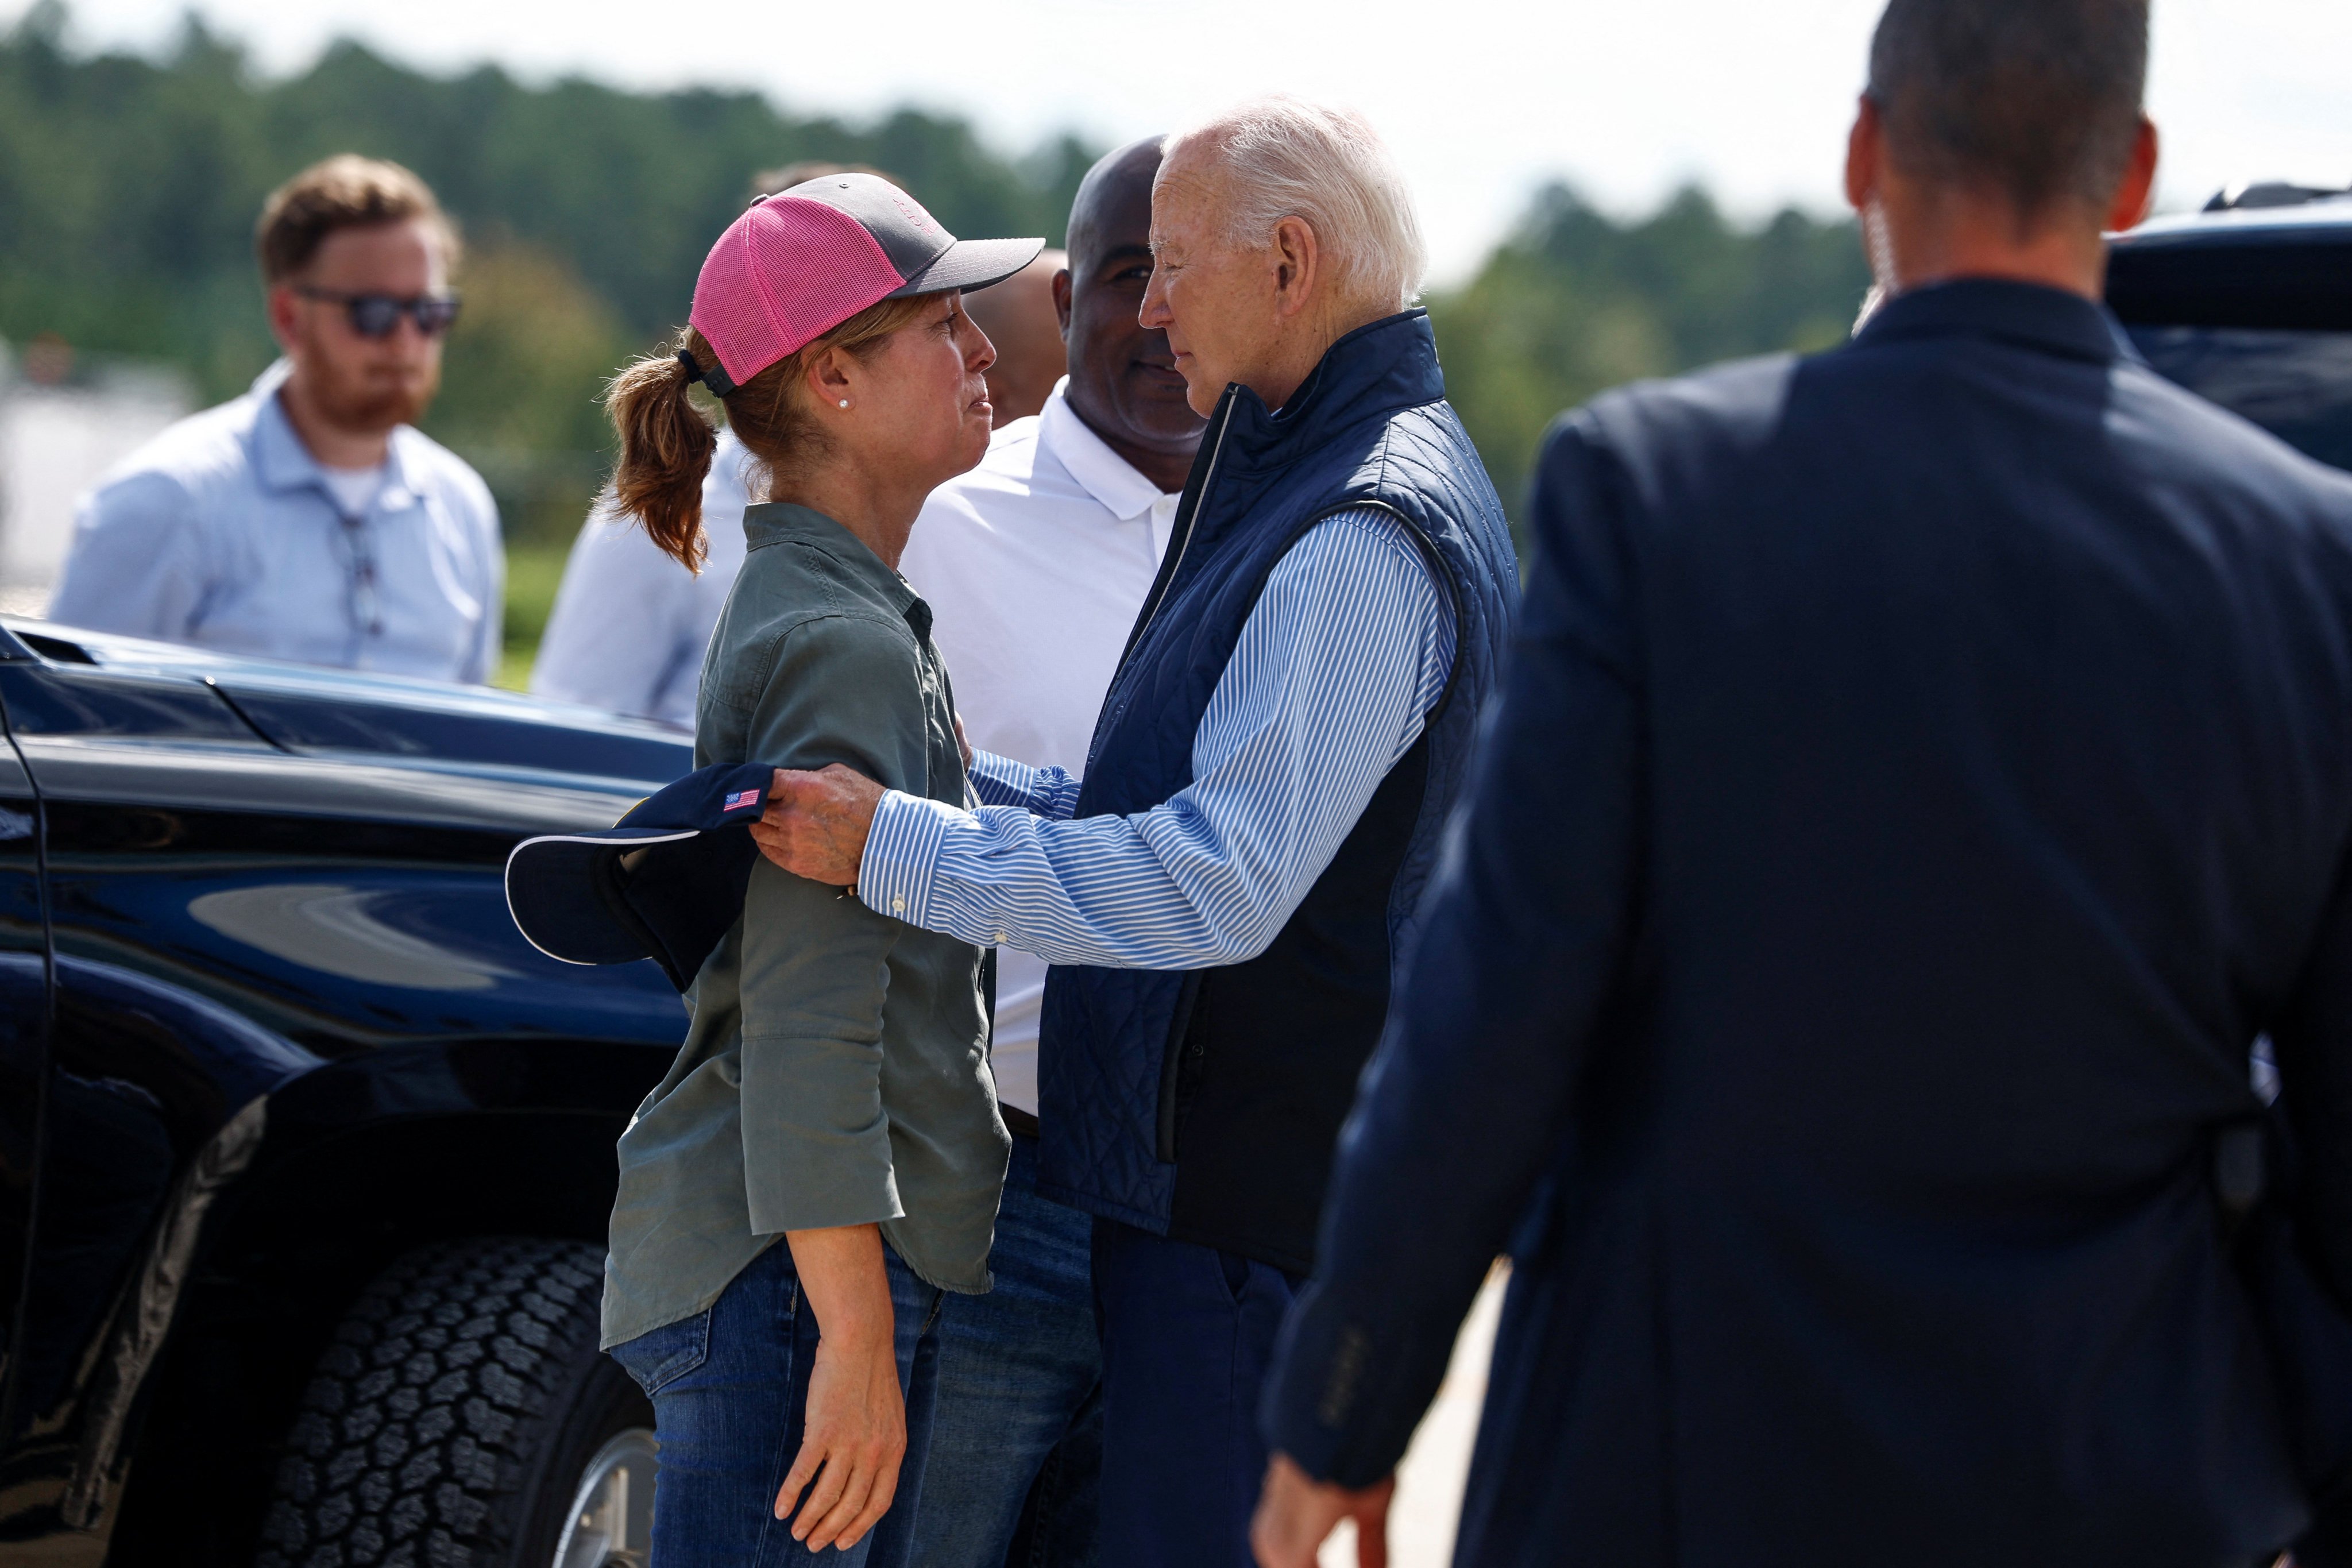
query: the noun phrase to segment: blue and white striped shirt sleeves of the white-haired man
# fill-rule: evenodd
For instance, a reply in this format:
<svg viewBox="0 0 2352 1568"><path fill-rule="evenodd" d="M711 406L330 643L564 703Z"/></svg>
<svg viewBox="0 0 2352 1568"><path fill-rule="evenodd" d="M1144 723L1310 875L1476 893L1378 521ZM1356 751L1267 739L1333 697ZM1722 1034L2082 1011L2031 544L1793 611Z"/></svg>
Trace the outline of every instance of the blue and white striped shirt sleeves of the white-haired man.
<svg viewBox="0 0 2352 1568"><path fill-rule="evenodd" d="M1051 964L1254 959L1421 738L1451 670L1454 604L1406 524L1336 512L1265 578L1192 738L1190 785L1136 816L1073 818L1077 778L981 752L976 811L882 797L858 898Z"/></svg>

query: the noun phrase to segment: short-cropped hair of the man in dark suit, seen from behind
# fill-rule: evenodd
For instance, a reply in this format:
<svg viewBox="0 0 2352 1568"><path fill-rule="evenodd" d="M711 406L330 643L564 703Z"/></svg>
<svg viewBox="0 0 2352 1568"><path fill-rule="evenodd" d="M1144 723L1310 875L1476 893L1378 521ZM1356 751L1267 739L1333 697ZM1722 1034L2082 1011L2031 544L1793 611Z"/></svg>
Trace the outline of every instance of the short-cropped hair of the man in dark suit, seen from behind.
<svg viewBox="0 0 2352 1568"><path fill-rule="evenodd" d="M1891 0L1870 101L1896 162L2020 214L2105 212L2140 134L2147 0Z"/></svg>

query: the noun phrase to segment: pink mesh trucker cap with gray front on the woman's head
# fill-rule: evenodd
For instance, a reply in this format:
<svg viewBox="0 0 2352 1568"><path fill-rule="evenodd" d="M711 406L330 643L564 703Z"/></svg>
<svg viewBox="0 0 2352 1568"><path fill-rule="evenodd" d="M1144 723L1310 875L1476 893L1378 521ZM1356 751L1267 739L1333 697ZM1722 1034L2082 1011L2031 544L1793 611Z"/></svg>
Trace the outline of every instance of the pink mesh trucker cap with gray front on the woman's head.
<svg viewBox="0 0 2352 1568"><path fill-rule="evenodd" d="M727 226L694 280L687 317L720 355L724 397L858 310L903 294L985 289L1044 240L957 240L875 174L823 174L760 197Z"/></svg>

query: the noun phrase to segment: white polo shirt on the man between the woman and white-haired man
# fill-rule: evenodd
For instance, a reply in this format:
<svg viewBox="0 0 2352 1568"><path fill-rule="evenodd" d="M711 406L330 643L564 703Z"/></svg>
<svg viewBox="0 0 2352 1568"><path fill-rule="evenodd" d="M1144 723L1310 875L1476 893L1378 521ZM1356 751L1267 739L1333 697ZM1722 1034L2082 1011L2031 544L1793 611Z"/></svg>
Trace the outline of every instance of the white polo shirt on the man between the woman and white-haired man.
<svg viewBox="0 0 2352 1568"><path fill-rule="evenodd" d="M1068 378L988 442L915 520L898 571L931 604L971 745L1077 776L1176 496L1070 411ZM997 1098L1037 1112L1044 959L997 947Z"/></svg>

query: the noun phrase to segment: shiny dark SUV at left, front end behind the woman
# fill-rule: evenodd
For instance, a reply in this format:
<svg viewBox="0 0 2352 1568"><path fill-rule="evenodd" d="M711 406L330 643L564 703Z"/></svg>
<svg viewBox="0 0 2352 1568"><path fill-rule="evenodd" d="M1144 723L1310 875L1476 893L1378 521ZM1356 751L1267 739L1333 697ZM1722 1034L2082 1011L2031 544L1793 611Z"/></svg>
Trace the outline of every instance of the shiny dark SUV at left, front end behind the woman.
<svg viewBox="0 0 2352 1568"><path fill-rule="evenodd" d="M642 1566L595 1307L684 1006L501 872L687 743L38 621L0 724L0 1556Z"/></svg>

